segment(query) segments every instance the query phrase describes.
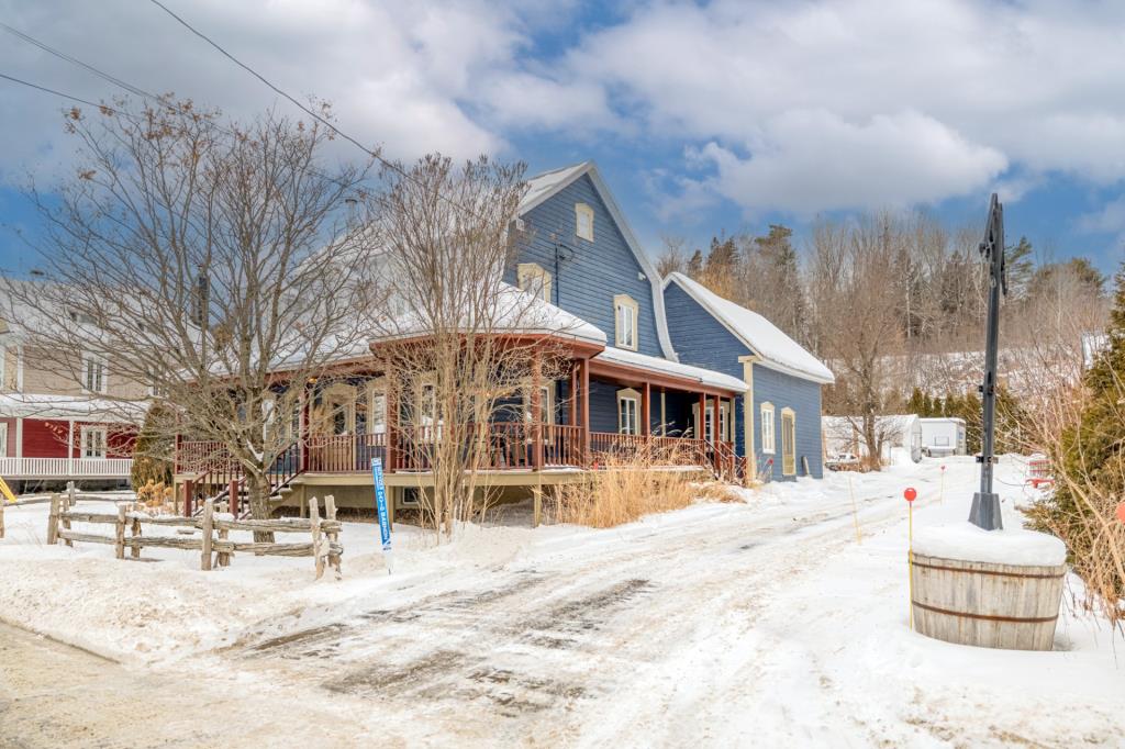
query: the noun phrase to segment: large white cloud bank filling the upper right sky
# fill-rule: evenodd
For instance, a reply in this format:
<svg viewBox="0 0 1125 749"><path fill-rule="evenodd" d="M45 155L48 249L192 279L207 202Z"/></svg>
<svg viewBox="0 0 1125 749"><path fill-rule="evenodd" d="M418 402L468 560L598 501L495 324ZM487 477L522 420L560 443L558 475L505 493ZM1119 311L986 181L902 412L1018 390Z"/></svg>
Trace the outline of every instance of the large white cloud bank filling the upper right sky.
<svg viewBox="0 0 1125 749"><path fill-rule="evenodd" d="M1123 28L1125 6L1092 1L655 2L562 62L649 137L705 145L702 183L810 213L938 201L1006 165L1009 197L1051 172L1122 180Z"/></svg>

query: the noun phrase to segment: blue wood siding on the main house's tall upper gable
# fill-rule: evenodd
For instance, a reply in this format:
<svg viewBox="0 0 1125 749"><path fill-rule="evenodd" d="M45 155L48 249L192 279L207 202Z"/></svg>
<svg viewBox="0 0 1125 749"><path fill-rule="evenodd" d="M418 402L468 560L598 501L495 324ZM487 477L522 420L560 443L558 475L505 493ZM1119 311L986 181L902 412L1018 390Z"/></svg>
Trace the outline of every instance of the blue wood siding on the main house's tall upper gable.
<svg viewBox="0 0 1125 749"><path fill-rule="evenodd" d="M575 204L584 202L594 210L594 241L575 235ZM664 358L656 333L652 285L644 273L632 250L626 243L593 181L583 175L528 211L523 219L529 241L520 247L518 263L538 263L552 278L551 301L601 328L614 342L613 297L628 294L638 309L638 351ZM556 264L556 247L559 261ZM504 276L516 282L516 269ZM615 406L614 406L615 409Z"/></svg>

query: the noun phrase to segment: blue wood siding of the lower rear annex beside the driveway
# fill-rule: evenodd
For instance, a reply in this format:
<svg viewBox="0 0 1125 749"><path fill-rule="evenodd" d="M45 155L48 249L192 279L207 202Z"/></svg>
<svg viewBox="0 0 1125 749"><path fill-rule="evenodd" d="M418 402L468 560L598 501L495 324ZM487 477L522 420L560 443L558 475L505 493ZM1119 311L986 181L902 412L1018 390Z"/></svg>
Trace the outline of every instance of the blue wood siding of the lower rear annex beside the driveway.
<svg viewBox="0 0 1125 749"><path fill-rule="evenodd" d="M669 283L664 291L664 306L668 316L668 334L672 345L685 364L706 369L742 379L740 357L754 353L741 341L717 321L691 295L676 283ZM745 444L745 398L735 399L735 450L746 455ZM760 406L770 401L774 405L774 434L777 451L774 455L762 453ZM691 405L688 404L688 409ZM781 466L781 410L792 408L796 418L796 475L804 476L802 458L809 460L809 475L821 478L824 455L820 444L820 385L784 374L760 364L754 366L754 457L758 470L772 468L776 480L782 476ZM690 414L690 412L688 412ZM773 458L773 466L766 461Z"/></svg>

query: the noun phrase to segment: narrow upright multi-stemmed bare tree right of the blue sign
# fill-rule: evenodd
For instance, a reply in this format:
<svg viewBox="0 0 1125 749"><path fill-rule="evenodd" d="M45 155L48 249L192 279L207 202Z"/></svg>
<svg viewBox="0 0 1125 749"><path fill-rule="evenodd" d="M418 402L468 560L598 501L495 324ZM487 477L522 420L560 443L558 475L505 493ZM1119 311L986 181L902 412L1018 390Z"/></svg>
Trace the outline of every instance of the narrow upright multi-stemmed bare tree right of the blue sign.
<svg viewBox="0 0 1125 749"><path fill-rule="evenodd" d="M524 460L552 435L546 409L567 366L576 318L530 280L503 280L515 260L523 166L454 165L432 155L386 171L376 197L381 278L395 314L375 351L399 419L394 443L433 479L423 506L448 536L485 507L483 468ZM561 437L557 437L561 439Z"/></svg>

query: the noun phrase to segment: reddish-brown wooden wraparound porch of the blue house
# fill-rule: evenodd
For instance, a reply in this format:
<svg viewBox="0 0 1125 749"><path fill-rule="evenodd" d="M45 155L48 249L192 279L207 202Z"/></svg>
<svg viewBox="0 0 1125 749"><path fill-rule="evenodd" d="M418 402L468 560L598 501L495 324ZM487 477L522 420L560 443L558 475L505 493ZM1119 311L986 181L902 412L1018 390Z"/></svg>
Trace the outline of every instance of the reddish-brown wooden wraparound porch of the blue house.
<svg viewBox="0 0 1125 749"><path fill-rule="evenodd" d="M745 389L739 380L612 352L576 358L561 380L540 379L537 364L514 404L505 403L493 421L458 428L405 424L396 398L416 401L415 414L435 414L433 391L423 386L398 394L386 372L310 382L294 414L292 442L270 470L274 500L282 502L295 485L370 486L375 458L388 486L424 484L438 446L451 434L479 451L474 470L497 485L568 480L638 460L728 480L745 475L734 444L735 398ZM243 478L219 443L177 441L176 482L186 486L187 503L241 496Z"/></svg>

